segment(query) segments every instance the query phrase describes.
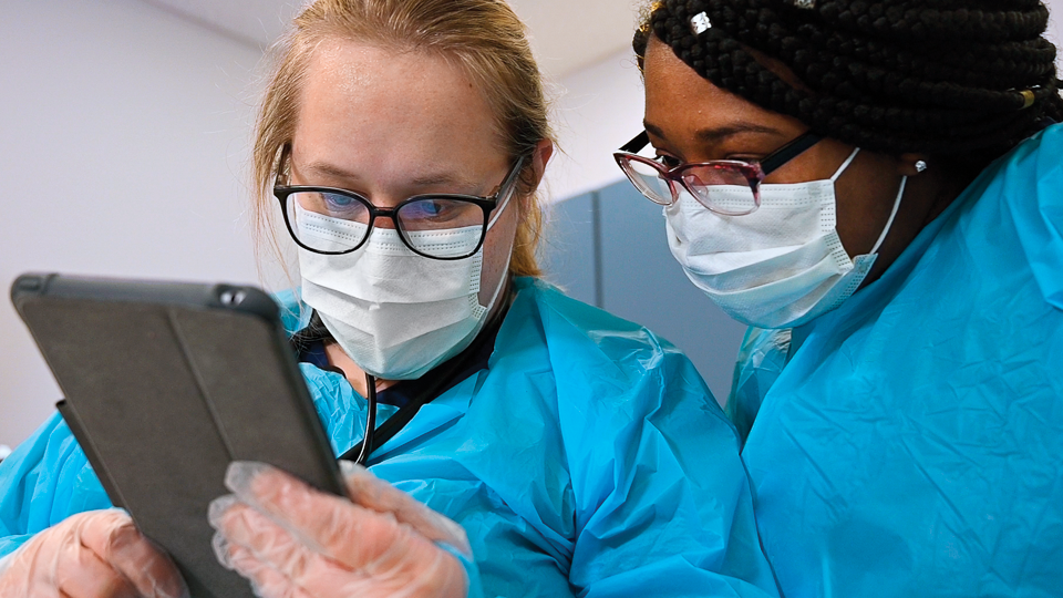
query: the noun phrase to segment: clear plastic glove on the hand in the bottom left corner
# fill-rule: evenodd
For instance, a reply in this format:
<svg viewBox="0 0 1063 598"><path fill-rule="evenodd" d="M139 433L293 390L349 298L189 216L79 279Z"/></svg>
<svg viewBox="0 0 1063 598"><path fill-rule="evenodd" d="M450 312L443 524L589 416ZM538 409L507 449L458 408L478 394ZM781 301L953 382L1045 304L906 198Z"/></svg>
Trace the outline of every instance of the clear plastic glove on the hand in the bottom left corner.
<svg viewBox="0 0 1063 598"><path fill-rule="evenodd" d="M6 559L3 598L187 598L173 561L122 511L73 515Z"/></svg>

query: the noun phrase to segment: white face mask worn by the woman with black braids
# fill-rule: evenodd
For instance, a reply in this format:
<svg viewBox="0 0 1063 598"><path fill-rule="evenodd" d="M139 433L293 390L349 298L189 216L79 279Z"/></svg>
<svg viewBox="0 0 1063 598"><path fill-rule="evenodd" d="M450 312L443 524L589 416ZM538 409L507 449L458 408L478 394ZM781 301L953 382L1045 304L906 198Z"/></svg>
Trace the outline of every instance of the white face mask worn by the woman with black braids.
<svg viewBox="0 0 1063 598"><path fill-rule="evenodd" d="M789 328L837 308L875 265L907 182L875 247L849 259L835 229L834 182L857 152L828 179L762 185L761 207L745 216L721 216L683 192L664 208L672 256L698 288L749 326Z"/></svg>

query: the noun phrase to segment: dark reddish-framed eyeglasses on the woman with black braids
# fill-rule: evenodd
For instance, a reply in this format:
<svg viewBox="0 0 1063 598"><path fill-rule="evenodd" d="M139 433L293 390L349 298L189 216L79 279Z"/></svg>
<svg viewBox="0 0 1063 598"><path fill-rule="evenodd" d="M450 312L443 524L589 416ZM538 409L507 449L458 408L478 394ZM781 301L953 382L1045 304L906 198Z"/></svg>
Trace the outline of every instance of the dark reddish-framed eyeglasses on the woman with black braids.
<svg viewBox="0 0 1063 598"><path fill-rule="evenodd" d="M764 177L822 138L815 133L805 133L760 162L714 159L669 168L657 159L637 155L650 143L649 134L643 131L612 157L631 184L654 204L670 206L679 200L680 189L687 189L701 205L716 214L744 216L761 207L760 189Z"/></svg>

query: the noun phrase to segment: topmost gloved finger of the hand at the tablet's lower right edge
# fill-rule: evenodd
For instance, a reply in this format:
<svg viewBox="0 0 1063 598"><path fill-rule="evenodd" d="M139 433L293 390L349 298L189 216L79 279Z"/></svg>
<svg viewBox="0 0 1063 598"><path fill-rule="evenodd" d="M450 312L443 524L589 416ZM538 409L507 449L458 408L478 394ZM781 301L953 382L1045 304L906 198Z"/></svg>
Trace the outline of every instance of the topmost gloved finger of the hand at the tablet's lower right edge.
<svg viewBox="0 0 1063 598"><path fill-rule="evenodd" d="M354 503L378 513L391 513L400 523L416 529L425 538L448 544L465 557L473 557L468 536L462 526L354 462L340 461L340 471Z"/></svg>

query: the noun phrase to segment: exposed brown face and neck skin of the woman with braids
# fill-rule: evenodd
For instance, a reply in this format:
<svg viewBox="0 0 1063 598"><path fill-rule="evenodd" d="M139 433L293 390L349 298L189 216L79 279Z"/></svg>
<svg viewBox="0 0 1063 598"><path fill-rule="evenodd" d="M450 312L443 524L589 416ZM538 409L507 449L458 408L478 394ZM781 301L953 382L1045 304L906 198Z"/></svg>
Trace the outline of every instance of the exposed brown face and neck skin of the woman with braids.
<svg viewBox="0 0 1063 598"><path fill-rule="evenodd" d="M772 64L773 70L781 69ZM716 87L698 74L663 42L649 41L644 63L646 120L650 143L665 163L710 159L762 159L808 131L801 121L757 106ZM784 73L792 81L792 73ZM793 81L792 81L793 82ZM796 82L794 82L796 83ZM854 147L825 138L773 172L765 183L801 183L829 178ZM915 163L929 168L918 173ZM904 199L864 281L876 280L908 247L922 228L959 195L964 181L920 154L890 156L860 151L837 179L837 230L850 257L867 254L881 235L901 177L907 175Z"/></svg>

